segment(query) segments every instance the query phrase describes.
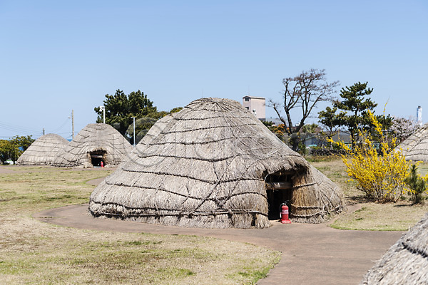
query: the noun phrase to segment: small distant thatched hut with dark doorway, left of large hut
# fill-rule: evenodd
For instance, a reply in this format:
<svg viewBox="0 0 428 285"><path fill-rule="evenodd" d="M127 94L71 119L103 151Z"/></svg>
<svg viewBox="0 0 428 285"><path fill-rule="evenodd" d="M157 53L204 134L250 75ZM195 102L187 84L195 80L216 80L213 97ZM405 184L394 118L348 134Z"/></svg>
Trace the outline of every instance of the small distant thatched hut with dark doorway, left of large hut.
<svg viewBox="0 0 428 285"><path fill-rule="evenodd" d="M119 165L126 159L132 146L111 125L88 124L71 142L58 152L53 166L104 167Z"/></svg>

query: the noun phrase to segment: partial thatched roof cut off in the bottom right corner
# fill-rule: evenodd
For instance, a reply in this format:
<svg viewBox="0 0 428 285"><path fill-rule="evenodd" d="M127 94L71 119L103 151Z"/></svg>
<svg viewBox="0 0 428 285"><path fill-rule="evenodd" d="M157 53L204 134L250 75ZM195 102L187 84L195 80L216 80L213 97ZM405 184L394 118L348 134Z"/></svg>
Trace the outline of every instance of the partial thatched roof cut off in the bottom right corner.
<svg viewBox="0 0 428 285"><path fill-rule="evenodd" d="M389 248L361 284L428 284L428 214Z"/></svg>

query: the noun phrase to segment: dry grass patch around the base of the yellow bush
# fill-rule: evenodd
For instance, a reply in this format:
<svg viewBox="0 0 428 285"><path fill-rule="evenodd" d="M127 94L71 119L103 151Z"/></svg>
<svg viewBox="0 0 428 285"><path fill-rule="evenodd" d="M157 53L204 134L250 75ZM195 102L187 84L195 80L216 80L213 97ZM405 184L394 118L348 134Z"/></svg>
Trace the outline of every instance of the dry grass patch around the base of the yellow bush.
<svg viewBox="0 0 428 285"><path fill-rule="evenodd" d="M361 204L362 208L353 213L344 213L335 220L332 227L337 229L362 229L374 231L407 231L419 222L428 212L428 204L412 205L409 196L392 204L379 204L367 201L364 193L357 190L354 182L348 182L345 165L340 158L335 160L317 160L311 162L333 182L342 187L347 204ZM419 165L419 172L424 175L428 171L426 163Z"/></svg>

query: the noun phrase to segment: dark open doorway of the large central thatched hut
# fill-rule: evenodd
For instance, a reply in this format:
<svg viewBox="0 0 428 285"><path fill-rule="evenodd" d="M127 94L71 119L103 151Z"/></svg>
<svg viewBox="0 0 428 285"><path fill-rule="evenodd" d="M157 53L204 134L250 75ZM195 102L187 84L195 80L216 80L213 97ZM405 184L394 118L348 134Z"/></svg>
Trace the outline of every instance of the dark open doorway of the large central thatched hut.
<svg viewBox="0 0 428 285"><path fill-rule="evenodd" d="M290 207L292 199L292 172L275 172L265 177L269 219L280 219L280 207L287 202Z"/></svg>

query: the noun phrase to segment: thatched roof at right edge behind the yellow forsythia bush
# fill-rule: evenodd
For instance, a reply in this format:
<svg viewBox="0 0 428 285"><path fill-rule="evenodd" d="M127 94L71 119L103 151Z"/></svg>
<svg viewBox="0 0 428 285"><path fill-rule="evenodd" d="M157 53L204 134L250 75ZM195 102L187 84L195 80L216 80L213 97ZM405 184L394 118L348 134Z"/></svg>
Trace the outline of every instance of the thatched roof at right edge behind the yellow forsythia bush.
<svg viewBox="0 0 428 285"><path fill-rule="evenodd" d="M398 145L406 160L428 161L428 123Z"/></svg>

